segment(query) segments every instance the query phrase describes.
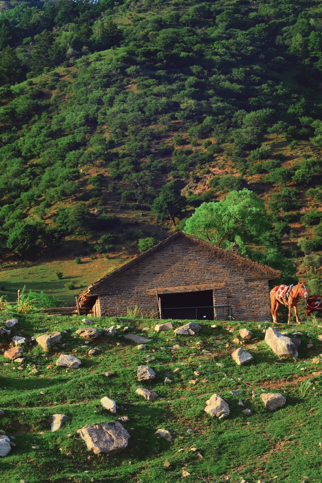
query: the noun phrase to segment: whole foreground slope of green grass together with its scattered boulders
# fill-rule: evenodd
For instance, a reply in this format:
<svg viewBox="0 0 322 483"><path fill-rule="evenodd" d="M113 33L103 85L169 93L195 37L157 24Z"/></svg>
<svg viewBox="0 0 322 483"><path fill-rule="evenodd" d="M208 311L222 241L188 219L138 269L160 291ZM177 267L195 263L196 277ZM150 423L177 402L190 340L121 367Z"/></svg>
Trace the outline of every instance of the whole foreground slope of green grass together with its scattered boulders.
<svg viewBox="0 0 322 483"><path fill-rule="evenodd" d="M319 319L1 317L1 483L320 481Z"/></svg>

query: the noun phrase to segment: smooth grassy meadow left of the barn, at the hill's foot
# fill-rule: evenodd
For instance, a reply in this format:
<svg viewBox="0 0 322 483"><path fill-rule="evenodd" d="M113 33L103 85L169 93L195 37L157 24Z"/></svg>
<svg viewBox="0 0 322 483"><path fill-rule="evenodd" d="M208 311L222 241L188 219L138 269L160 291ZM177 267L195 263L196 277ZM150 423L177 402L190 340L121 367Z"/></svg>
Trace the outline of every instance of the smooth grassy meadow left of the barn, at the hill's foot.
<svg viewBox="0 0 322 483"><path fill-rule="evenodd" d="M121 258L89 258L83 259L80 264L75 260L43 262L25 267L22 264L16 267L11 265L1 270L0 295L5 295L8 302L17 299L18 289L41 291L62 301L64 305L75 305L75 295L80 295L102 276L118 268L126 259ZM58 280L56 272L62 272L63 278ZM73 282L75 288L69 290L65 284ZM4 288L4 290L3 290Z"/></svg>

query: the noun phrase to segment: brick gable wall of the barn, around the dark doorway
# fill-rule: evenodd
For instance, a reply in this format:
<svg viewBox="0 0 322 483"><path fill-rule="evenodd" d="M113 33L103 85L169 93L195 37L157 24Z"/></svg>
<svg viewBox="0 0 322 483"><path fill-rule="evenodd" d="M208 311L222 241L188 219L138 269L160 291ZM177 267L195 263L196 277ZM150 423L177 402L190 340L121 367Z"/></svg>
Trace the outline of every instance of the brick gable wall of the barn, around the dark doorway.
<svg viewBox="0 0 322 483"><path fill-rule="evenodd" d="M98 297L94 315L125 316L126 308L136 305L151 314L158 306L156 295L148 295L147 289L224 282L224 288L213 290L214 305L226 304L228 295L235 320L270 320L268 280L245 282L245 277L263 276L260 266L178 237L100 284L97 293L104 293Z"/></svg>

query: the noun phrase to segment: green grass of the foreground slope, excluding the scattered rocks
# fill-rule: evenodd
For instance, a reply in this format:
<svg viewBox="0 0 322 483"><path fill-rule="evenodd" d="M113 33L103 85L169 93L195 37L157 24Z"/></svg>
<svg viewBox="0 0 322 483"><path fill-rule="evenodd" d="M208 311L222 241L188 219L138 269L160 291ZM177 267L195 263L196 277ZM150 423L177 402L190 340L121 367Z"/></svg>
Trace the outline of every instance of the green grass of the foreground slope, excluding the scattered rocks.
<svg viewBox="0 0 322 483"><path fill-rule="evenodd" d="M184 337L171 331L156 333L155 320L95 319L93 324L98 328L114 324L122 328L114 338L91 341L88 348L98 347L99 351L89 356L88 349L81 348L84 341L75 336L83 325L81 317L40 319L37 314L19 314L18 319L20 328L15 332L26 337L39 334L40 327L47 327L47 333L68 330L60 341L69 344L63 352L81 358L82 365L79 369L57 368L60 343L57 350L48 353L35 342L29 344L21 370L19 364L0 355L0 409L5 410L0 429L14 436L16 443L11 453L0 459L1 483L19 483L21 479L27 483L219 483L227 477L232 483L242 478L249 483L321 481L322 363L312 363L312 357L322 352L317 339L322 332L319 319L305 321L302 326L276 326L278 330L303 332L298 360L280 360L269 349L263 333L268 324L259 328L258 323L218 322L214 329L210 327L213 321L202 322L198 336ZM175 322L175 327L179 325ZM151 338L147 350L138 350L124 339L125 326L127 333ZM143 327L149 327L148 332L142 332ZM248 344L252 346L252 364L239 367L230 354L236 347L232 339L241 327L250 328L256 339ZM310 349L309 340L313 342ZM201 349L196 342L202 342ZM180 348L171 353L169 347L174 343ZM10 344L5 336L0 347L4 351ZM204 350L210 354L204 355ZM147 355L153 357L148 365L156 372L152 384L139 383L136 377L137 366L147 364ZM38 374L31 372L33 364ZM176 368L180 368L179 373L173 372ZM196 370L200 376L194 374ZM107 378L105 371L115 377ZM166 376L170 384L164 382ZM192 379L197 380L195 385L190 383ZM135 390L139 385L156 391L159 399L149 402L138 396ZM241 394L233 395L232 390ZM268 412L259 398L262 391L281 392L286 406ZM204 412L213 393L227 399L228 419L212 419ZM100 405L103 396L124 409L113 416ZM244 407L238 406L239 399ZM242 413L245 408L252 411L250 416ZM67 414L70 420L51 433L54 413ZM89 453L77 429L111 422L121 415L129 418L123 423L131 435L126 450L116 456ZM171 432L171 442L154 435L159 428ZM193 432L189 434L188 429ZM190 475L182 477L183 470Z"/></svg>

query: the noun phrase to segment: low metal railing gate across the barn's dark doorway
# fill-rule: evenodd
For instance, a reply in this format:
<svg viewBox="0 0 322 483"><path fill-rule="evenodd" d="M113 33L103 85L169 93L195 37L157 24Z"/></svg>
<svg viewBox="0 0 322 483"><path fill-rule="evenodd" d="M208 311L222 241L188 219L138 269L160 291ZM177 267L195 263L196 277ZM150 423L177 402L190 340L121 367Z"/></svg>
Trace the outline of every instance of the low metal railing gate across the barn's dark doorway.
<svg viewBox="0 0 322 483"><path fill-rule="evenodd" d="M232 320L231 305L210 305L208 307L161 308L161 319L214 320L214 309L227 309L227 319Z"/></svg>

